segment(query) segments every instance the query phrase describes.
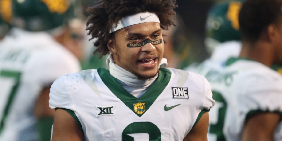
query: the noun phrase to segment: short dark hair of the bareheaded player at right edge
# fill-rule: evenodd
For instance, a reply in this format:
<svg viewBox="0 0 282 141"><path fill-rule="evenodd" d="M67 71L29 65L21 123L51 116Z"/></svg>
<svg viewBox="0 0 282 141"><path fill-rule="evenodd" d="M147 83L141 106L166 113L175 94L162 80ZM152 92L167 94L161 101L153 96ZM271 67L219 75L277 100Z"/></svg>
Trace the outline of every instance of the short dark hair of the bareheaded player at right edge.
<svg viewBox="0 0 282 141"><path fill-rule="evenodd" d="M246 0L239 13L242 38L255 42L270 24L282 16L281 0Z"/></svg>

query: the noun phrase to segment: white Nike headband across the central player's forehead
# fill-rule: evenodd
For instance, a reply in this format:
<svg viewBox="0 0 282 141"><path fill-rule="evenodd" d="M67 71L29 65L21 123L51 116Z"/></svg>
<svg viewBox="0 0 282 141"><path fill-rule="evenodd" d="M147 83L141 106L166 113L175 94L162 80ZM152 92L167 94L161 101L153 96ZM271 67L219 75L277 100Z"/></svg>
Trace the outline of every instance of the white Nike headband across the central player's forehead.
<svg viewBox="0 0 282 141"><path fill-rule="evenodd" d="M158 15L154 13L149 13L149 12L130 15L118 21L117 27L114 24L112 29L110 30L110 33L115 32L116 30L120 30L125 27L129 27L131 25L136 25L139 23L146 23L146 22L160 23L160 19L158 18Z"/></svg>

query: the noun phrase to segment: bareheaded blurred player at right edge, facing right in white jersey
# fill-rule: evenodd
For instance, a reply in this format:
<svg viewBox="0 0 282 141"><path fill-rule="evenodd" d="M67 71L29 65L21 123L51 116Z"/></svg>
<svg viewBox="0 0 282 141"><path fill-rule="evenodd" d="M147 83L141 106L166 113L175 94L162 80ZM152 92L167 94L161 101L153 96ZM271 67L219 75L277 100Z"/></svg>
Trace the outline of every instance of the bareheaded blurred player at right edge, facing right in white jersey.
<svg viewBox="0 0 282 141"><path fill-rule="evenodd" d="M225 69L203 72L217 104L210 111L210 141L281 141L282 1L248 0L239 13L242 49Z"/></svg>

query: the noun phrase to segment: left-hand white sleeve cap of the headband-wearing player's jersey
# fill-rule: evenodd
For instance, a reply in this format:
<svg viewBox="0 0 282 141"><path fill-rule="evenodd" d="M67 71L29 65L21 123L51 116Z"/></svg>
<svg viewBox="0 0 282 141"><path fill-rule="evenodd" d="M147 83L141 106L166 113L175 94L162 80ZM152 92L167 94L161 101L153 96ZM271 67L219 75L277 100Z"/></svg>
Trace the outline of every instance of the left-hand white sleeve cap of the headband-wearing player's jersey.
<svg viewBox="0 0 282 141"><path fill-rule="evenodd" d="M69 93L67 86L67 76L63 75L58 78L51 86L49 94L49 107L54 108L65 108L74 111L72 98Z"/></svg>

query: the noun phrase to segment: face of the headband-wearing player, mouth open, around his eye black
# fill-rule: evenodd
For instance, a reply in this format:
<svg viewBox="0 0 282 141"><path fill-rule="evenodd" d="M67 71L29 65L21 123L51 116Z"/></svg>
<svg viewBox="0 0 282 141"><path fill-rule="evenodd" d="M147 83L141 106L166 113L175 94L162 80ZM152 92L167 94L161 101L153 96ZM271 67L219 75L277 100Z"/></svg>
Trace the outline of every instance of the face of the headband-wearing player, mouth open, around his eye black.
<svg viewBox="0 0 282 141"><path fill-rule="evenodd" d="M151 41L163 40L159 23L147 22L123 28L108 43L114 62L143 80L153 78L158 73L164 43L147 43L141 47L127 47L127 44L139 43L147 38Z"/></svg>

